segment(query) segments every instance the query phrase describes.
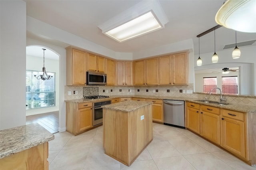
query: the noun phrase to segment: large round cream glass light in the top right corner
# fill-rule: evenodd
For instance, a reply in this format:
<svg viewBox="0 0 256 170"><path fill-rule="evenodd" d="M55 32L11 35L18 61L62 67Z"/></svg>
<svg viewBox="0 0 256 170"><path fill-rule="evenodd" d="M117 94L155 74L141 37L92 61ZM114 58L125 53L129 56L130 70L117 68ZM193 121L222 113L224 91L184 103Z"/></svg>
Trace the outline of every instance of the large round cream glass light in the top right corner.
<svg viewBox="0 0 256 170"><path fill-rule="evenodd" d="M215 21L236 31L256 32L256 0L227 0Z"/></svg>

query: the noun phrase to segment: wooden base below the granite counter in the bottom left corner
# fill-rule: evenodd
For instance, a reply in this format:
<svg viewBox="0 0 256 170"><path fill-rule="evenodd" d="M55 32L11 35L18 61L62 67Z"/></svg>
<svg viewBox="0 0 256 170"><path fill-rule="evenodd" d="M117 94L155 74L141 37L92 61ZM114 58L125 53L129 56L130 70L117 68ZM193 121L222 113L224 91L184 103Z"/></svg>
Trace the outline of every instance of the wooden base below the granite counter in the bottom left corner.
<svg viewBox="0 0 256 170"><path fill-rule="evenodd" d="M0 159L0 170L49 170L48 142Z"/></svg>

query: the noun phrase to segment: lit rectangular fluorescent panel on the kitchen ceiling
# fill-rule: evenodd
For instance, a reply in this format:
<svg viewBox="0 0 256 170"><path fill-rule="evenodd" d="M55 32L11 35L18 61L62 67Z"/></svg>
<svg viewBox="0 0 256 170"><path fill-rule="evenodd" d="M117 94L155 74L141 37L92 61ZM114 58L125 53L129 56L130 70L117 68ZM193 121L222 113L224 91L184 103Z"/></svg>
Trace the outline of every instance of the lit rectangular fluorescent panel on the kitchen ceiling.
<svg viewBox="0 0 256 170"><path fill-rule="evenodd" d="M135 18L134 20L126 22L125 24L106 32L105 34L119 42L123 42L160 28L162 28L162 26L158 23L150 11L142 16L139 16L138 18Z"/></svg>

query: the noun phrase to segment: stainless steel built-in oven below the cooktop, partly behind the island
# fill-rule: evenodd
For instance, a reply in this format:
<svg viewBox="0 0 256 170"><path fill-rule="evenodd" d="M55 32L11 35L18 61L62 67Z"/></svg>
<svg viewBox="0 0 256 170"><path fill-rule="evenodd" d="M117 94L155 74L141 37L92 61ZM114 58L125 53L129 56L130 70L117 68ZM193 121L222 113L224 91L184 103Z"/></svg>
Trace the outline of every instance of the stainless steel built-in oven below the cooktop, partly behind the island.
<svg viewBox="0 0 256 170"><path fill-rule="evenodd" d="M103 122L103 108L104 105L111 104L111 101L95 102L93 105L93 126L99 125Z"/></svg>

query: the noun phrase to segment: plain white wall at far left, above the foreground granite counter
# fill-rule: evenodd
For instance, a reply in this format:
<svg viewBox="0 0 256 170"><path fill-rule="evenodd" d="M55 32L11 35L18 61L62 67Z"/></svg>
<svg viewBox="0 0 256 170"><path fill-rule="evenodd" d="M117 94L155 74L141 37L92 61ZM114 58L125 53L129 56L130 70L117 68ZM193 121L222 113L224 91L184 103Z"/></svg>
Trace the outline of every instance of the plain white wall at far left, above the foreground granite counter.
<svg viewBox="0 0 256 170"><path fill-rule="evenodd" d="M0 1L0 130L26 124L26 2Z"/></svg>

